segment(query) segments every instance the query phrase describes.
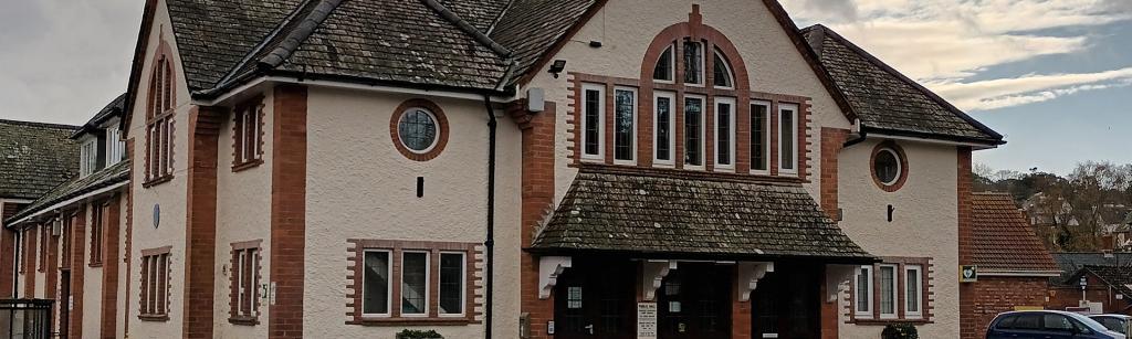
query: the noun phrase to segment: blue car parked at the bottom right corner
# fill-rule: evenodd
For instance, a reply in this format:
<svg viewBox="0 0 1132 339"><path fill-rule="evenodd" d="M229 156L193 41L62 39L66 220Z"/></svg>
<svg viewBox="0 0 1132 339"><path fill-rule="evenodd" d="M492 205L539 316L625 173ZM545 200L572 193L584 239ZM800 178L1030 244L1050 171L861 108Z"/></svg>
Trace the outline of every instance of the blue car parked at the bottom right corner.
<svg viewBox="0 0 1132 339"><path fill-rule="evenodd" d="M1064 311L1018 311L995 316L987 339L1126 339L1088 316Z"/></svg>

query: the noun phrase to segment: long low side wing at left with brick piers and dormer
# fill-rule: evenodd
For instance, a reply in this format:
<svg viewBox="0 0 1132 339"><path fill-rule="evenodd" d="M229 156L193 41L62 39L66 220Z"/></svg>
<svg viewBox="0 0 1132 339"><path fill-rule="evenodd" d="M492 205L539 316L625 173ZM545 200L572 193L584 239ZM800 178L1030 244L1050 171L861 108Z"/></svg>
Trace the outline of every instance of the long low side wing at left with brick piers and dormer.
<svg viewBox="0 0 1132 339"><path fill-rule="evenodd" d="M129 162L118 124L119 96L67 136L78 156L70 180L42 192L5 227L23 234L23 269L16 277L24 298L54 302L53 334L65 338L122 338L128 281L121 253L128 218ZM122 268L119 270L119 268Z"/></svg>

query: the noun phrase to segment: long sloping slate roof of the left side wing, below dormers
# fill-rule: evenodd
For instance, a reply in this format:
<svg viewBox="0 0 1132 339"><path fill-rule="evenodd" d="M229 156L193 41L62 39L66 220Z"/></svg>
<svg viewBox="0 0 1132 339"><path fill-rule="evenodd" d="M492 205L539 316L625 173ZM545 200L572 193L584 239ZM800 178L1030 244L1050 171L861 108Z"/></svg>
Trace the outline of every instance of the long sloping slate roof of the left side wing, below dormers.
<svg viewBox="0 0 1132 339"><path fill-rule="evenodd" d="M42 197L33 201L31 205L22 209L18 214L8 218L5 221L6 225L11 225L12 221L23 219L24 217L35 215L45 208L50 208L55 203L67 201L68 199L80 197L83 194L94 192L98 189L106 188L117 183L125 182L130 179L130 162L122 160L110 167L102 168L102 171L92 173L91 175L78 177L77 175L71 180L51 189Z"/></svg>

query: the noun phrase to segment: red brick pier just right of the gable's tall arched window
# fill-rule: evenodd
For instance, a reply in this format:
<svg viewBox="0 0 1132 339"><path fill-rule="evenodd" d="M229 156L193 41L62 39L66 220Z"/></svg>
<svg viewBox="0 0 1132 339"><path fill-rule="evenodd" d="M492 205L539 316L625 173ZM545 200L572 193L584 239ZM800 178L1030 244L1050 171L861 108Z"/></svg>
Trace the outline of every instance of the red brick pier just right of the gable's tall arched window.
<svg viewBox="0 0 1132 339"><path fill-rule="evenodd" d="M213 338L216 286L216 168L222 107L189 112L182 338Z"/></svg>

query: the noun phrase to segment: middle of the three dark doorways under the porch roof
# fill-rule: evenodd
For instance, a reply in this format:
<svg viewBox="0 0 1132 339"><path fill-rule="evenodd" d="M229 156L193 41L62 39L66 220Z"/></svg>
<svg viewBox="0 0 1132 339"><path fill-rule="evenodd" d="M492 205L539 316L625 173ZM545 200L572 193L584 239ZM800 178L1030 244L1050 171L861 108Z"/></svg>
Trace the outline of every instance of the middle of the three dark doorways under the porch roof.
<svg viewBox="0 0 1132 339"><path fill-rule="evenodd" d="M659 339L731 338L734 266L680 263L657 292Z"/></svg>

